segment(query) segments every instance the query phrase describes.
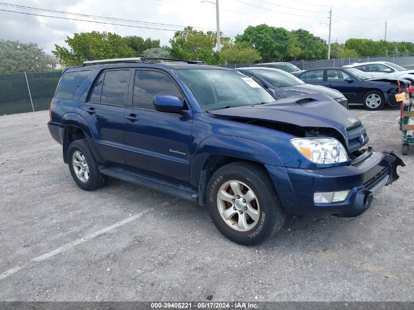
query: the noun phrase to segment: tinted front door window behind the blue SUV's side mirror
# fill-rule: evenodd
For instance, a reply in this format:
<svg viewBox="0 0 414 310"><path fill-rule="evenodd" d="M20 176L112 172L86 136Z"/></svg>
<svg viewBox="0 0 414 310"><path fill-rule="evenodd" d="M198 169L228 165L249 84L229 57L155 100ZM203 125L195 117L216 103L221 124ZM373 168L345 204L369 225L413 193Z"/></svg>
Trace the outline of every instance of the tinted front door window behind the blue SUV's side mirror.
<svg viewBox="0 0 414 310"><path fill-rule="evenodd" d="M182 98L177 86L166 74L156 71L137 70L135 73L132 106L153 110L154 105L152 101L157 94L172 94L180 99Z"/></svg>

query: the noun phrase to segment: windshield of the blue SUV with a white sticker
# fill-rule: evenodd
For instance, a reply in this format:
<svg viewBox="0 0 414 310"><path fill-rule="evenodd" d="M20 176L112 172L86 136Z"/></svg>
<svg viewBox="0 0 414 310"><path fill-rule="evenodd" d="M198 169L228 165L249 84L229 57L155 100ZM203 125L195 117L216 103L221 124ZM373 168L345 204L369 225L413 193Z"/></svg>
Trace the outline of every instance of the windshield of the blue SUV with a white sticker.
<svg viewBox="0 0 414 310"><path fill-rule="evenodd" d="M217 69L181 69L178 72L204 110L275 100L262 86L242 72Z"/></svg>

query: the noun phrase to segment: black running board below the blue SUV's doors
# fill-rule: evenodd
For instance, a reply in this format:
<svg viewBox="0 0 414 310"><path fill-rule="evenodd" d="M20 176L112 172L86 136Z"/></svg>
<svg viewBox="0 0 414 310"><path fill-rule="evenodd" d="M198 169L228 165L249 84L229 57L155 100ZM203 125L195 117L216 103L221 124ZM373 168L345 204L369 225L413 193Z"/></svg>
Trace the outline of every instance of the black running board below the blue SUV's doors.
<svg viewBox="0 0 414 310"><path fill-rule="evenodd" d="M186 200L198 202L198 192L189 186L117 166L99 166L99 172L116 179L146 186Z"/></svg>

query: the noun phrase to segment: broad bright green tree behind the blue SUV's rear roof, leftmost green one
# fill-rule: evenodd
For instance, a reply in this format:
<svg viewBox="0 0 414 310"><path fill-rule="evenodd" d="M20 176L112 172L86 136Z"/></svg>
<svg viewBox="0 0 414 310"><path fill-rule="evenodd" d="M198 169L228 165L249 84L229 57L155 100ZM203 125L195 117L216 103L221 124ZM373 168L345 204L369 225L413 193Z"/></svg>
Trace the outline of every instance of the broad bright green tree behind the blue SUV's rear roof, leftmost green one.
<svg viewBox="0 0 414 310"><path fill-rule="evenodd" d="M65 42L70 49L55 44L52 53L66 66L80 65L86 60L134 57L135 51L126 44L125 38L111 32L81 32Z"/></svg>

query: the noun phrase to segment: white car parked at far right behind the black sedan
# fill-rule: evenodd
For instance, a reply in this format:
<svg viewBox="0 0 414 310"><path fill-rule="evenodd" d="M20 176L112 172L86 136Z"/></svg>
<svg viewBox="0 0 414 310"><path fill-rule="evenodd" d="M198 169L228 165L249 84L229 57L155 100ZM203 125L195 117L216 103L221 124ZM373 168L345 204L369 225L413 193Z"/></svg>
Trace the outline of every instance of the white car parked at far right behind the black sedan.
<svg viewBox="0 0 414 310"><path fill-rule="evenodd" d="M414 70L407 70L404 67L388 61L371 61L346 65L347 68L356 68L368 73L372 77L391 77L409 80L414 85Z"/></svg>

